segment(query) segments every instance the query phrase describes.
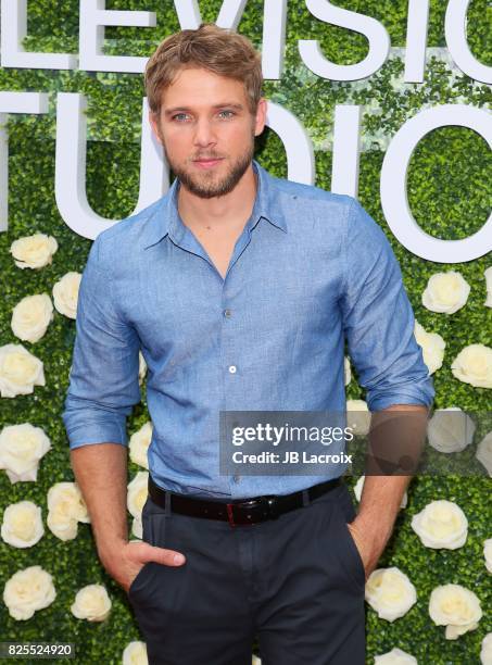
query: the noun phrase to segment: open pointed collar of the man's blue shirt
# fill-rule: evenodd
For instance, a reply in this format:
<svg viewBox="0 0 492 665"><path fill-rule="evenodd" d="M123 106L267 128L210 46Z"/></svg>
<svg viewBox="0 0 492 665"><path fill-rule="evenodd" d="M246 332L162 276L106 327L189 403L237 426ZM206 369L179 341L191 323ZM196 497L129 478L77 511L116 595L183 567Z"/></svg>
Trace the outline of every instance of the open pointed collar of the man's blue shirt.
<svg viewBox="0 0 492 665"><path fill-rule="evenodd" d="M257 190L253 212L248 222L252 230L260 219L264 218L277 228L287 233L285 215L278 204L278 191L273 177L255 160L253 170L257 175ZM162 238L171 235L174 239L182 236L184 224L178 214L177 195L179 180L175 178L167 193L161 199L153 213L147 219L143 249L155 244Z"/></svg>

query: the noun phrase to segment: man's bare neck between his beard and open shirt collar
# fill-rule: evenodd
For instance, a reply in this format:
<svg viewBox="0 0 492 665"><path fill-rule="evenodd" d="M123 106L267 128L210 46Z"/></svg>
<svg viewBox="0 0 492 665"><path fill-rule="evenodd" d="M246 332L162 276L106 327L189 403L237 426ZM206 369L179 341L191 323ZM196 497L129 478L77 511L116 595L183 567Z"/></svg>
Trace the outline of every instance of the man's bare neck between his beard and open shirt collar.
<svg viewBox="0 0 492 665"><path fill-rule="evenodd" d="M256 197L256 177L250 164L239 183L222 197L203 199L182 185L178 189L178 212L187 226L220 228L231 224L244 224L251 216Z"/></svg>

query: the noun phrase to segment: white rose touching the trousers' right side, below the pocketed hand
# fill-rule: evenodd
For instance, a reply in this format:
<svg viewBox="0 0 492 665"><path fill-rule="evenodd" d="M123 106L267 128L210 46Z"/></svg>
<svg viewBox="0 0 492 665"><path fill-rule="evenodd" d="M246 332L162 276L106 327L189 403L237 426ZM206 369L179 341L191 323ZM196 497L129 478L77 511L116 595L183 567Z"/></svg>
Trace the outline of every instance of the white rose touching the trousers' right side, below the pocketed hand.
<svg viewBox="0 0 492 665"><path fill-rule="evenodd" d="M379 618L394 622L417 602L408 577L395 566L373 570L366 581L365 598Z"/></svg>

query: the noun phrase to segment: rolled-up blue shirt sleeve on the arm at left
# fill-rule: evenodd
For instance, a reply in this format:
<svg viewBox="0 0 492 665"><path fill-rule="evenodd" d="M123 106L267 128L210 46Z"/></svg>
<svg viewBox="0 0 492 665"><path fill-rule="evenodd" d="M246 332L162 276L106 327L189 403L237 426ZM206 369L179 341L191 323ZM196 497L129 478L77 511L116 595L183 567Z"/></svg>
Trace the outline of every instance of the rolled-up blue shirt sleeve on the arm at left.
<svg viewBox="0 0 492 665"><path fill-rule="evenodd" d="M126 417L140 399L138 335L118 315L111 262L100 258L100 236L83 272L76 338L63 423L70 448L114 442L126 446Z"/></svg>

